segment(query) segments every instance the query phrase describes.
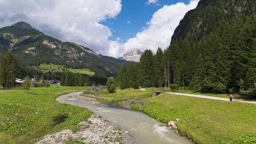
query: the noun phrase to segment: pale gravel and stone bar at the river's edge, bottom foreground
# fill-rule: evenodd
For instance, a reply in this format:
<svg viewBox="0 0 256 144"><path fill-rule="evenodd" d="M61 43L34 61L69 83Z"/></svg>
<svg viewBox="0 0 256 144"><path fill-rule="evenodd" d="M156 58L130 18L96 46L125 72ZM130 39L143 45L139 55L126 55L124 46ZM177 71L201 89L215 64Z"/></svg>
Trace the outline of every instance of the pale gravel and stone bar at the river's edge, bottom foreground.
<svg viewBox="0 0 256 144"><path fill-rule="evenodd" d="M89 123L90 121L90 123ZM63 144L79 140L86 144L134 144L128 131L112 124L111 122L96 116L91 116L88 122L80 122L81 128L78 132L63 130L47 136L36 144Z"/></svg>

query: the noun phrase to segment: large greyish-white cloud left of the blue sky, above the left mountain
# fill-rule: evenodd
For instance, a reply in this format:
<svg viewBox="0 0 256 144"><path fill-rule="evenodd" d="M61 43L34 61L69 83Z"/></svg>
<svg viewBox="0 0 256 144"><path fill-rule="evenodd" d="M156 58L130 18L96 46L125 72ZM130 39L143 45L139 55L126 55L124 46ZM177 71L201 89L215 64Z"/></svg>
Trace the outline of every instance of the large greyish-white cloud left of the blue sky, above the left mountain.
<svg viewBox="0 0 256 144"><path fill-rule="evenodd" d="M23 20L47 35L108 54L118 43L108 40L112 33L99 22L116 17L121 7L121 0L0 0L0 27Z"/></svg>

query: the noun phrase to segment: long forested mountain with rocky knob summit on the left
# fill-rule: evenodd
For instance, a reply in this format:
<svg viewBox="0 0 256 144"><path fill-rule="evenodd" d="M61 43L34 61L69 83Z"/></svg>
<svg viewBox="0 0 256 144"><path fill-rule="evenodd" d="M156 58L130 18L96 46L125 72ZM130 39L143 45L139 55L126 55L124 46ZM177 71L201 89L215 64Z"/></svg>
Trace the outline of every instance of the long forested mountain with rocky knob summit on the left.
<svg viewBox="0 0 256 144"><path fill-rule="evenodd" d="M0 50L11 51L24 66L53 63L75 69L89 68L97 76L103 77L116 75L120 65L128 63L109 56L99 56L76 43L46 36L25 22L0 28Z"/></svg>

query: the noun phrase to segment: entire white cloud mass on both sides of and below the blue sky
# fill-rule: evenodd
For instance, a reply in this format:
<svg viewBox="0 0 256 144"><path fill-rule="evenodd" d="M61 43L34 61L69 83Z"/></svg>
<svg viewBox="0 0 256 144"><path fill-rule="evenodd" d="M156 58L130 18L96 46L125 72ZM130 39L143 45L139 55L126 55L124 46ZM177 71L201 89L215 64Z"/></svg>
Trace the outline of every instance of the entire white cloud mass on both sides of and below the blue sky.
<svg viewBox="0 0 256 144"><path fill-rule="evenodd" d="M120 13L121 0L0 0L0 27L22 19L47 35L118 57L133 49L156 52L159 46L166 48L179 21L188 10L196 8L198 1L165 5L141 32L125 42L120 38L108 40L112 36L110 28L99 23ZM148 0L148 4L158 2Z"/></svg>

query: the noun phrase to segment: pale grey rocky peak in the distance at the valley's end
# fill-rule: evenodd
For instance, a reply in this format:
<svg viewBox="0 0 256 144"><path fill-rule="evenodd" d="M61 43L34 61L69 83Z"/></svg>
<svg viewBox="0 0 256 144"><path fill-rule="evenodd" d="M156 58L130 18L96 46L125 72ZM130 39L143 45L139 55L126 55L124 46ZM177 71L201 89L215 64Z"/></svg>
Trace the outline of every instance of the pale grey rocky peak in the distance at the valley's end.
<svg viewBox="0 0 256 144"><path fill-rule="evenodd" d="M135 49L130 52L127 52L123 55L123 57L119 57L119 60L127 60L127 61L135 61L139 62L140 61L140 56L142 55L143 52L140 52L140 50Z"/></svg>

